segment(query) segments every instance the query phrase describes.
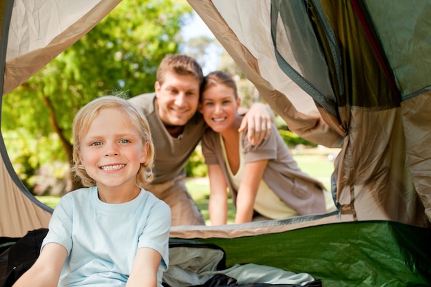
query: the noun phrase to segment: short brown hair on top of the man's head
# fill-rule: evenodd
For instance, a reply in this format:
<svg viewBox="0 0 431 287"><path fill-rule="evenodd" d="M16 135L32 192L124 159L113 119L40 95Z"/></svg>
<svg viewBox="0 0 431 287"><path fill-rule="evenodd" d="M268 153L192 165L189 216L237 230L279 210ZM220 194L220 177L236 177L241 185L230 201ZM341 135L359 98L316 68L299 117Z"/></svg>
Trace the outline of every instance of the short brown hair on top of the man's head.
<svg viewBox="0 0 431 287"><path fill-rule="evenodd" d="M165 82L165 74L169 71L175 72L176 74L193 76L198 80L199 85L202 85L204 74L202 68L191 56L175 54L166 55L157 69L157 81L160 85Z"/></svg>

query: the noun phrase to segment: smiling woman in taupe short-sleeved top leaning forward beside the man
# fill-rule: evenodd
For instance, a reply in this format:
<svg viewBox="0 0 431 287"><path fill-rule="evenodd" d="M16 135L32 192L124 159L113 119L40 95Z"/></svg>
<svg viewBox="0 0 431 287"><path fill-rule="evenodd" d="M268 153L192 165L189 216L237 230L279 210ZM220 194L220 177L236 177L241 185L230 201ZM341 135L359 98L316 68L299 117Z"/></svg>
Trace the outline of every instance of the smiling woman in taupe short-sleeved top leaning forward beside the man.
<svg viewBox="0 0 431 287"><path fill-rule="evenodd" d="M227 223L228 187L235 223L335 210L330 193L297 167L274 125L269 138L251 145L247 131L238 131L242 120L238 107L240 98L231 76L216 71L204 78L199 111L211 127L202 138L211 224Z"/></svg>

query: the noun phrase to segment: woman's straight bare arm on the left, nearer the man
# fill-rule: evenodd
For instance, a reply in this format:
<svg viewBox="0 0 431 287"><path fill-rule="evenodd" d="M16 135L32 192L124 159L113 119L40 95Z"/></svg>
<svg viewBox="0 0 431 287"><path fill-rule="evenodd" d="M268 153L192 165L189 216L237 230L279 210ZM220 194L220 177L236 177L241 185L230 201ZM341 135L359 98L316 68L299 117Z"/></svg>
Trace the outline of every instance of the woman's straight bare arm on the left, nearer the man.
<svg viewBox="0 0 431 287"><path fill-rule="evenodd" d="M208 165L209 219L211 225L227 224L227 184L218 164Z"/></svg>

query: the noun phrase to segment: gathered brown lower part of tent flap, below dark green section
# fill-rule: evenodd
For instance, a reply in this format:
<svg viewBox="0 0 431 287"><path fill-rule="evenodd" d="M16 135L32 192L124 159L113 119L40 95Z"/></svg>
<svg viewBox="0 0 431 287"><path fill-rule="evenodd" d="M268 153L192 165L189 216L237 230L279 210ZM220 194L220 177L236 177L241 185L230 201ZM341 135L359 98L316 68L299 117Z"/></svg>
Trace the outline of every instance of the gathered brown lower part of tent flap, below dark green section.
<svg viewBox="0 0 431 287"><path fill-rule="evenodd" d="M393 220L428 226L406 165L401 108L349 109L349 133L335 160L341 213L355 220Z"/></svg>

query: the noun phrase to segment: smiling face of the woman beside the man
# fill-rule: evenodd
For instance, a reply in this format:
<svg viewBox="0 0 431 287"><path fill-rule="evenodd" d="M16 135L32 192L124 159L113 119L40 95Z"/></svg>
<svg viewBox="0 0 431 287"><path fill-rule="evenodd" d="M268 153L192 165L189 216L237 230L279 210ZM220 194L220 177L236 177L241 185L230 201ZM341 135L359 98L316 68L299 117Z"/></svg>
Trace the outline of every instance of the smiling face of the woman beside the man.
<svg viewBox="0 0 431 287"><path fill-rule="evenodd" d="M207 87L202 92L199 111L204 116L207 125L213 131L220 133L233 127L239 105L240 99L235 98L233 89L218 83Z"/></svg>

